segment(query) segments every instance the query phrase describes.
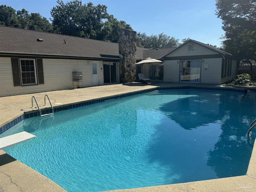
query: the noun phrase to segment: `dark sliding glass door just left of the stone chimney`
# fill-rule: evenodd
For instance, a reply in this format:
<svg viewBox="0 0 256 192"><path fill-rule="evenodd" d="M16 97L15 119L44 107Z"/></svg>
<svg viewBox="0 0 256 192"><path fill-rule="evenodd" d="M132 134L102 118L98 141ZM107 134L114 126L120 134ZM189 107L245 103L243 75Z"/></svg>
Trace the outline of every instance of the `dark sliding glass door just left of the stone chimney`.
<svg viewBox="0 0 256 192"><path fill-rule="evenodd" d="M117 83L116 63L103 62L104 84Z"/></svg>

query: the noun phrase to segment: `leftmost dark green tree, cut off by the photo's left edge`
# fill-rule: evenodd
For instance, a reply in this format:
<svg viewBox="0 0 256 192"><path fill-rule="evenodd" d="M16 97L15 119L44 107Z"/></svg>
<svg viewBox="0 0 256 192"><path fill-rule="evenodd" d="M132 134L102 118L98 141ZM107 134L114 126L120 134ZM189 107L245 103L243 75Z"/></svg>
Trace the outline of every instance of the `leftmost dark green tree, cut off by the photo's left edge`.
<svg viewBox="0 0 256 192"><path fill-rule="evenodd" d="M0 5L0 25L19 27L16 10L6 5Z"/></svg>

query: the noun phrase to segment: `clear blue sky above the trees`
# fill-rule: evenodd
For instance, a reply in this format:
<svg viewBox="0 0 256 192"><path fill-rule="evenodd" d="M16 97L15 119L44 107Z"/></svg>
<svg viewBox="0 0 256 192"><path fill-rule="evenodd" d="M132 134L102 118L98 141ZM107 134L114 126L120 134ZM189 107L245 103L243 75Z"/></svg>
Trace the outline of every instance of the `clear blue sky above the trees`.
<svg viewBox="0 0 256 192"><path fill-rule="evenodd" d="M69 1L69 0L68 0ZM63 0L66 3L66 0ZM215 15L215 0L82 0L106 5L108 14L124 20L136 32L148 36L164 33L180 39L190 38L202 43L221 46L224 35L222 21ZM56 0L0 0L16 11L25 8L48 20Z"/></svg>

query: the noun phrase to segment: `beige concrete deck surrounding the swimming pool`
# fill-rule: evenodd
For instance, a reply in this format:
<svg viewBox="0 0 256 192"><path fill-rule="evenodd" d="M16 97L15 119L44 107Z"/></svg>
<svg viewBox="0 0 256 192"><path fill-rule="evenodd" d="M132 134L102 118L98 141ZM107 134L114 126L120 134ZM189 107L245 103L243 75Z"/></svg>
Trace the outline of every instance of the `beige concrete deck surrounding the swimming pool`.
<svg viewBox="0 0 256 192"><path fill-rule="evenodd" d="M88 88L58 90L50 92L41 92L34 94L23 94L16 96L0 97L0 127L11 122L24 113L38 110L31 108L31 98L36 97L40 108L48 108L49 103L46 100L44 105L44 95L47 94L53 107L67 106L84 101L96 100L138 92L142 90L154 89L157 87L175 87L175 86L202 86L212 88L213 84L186 84L186 83L154 83L152 84L114 84L105 86L95 86ZM250 87L256 90L256 87ZM239 88L237 88L239 89ZM34 103L35 106L35 103ZM0 150L0 192L64 192L63 188L52 182L42 174L22 164ZM256 148L252 151L252 156L246 175L229 178L220 178L213 180L204 180L198 182L188 182L180 184L170 184L163 186L153 186L136 189L116 190L116 192L230 192L230 191L256 191Z"/></svg>

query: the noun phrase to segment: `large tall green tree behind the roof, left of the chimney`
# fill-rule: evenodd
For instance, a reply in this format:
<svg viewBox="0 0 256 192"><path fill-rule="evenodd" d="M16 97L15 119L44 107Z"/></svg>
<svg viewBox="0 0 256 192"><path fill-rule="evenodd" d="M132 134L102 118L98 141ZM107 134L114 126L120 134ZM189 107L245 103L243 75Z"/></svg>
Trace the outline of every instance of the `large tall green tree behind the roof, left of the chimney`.
<svg viewBox="0 0 256 192"><path fill-rule="evenodd" d="M105 5L82 4L81 0L57 3L51 15L54 30L60 34L118 42L118 30L126 25L109 15Z"/></svg>

